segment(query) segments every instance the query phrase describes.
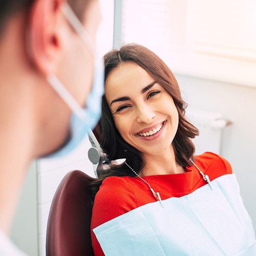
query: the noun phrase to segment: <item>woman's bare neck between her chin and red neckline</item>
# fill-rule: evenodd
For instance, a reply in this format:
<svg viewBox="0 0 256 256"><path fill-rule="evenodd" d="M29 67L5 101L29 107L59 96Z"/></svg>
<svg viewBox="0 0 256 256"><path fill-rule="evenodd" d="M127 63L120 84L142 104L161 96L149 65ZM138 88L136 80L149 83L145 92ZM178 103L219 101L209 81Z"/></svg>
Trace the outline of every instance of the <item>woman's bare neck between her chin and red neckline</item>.
<svg viewBox="0 0 256 256"><path fill-rule="evenodd" d="M158 155L143 155L145 166L140 175L165 175L185 172L185 169L175 160L173 147Z"/></svg>

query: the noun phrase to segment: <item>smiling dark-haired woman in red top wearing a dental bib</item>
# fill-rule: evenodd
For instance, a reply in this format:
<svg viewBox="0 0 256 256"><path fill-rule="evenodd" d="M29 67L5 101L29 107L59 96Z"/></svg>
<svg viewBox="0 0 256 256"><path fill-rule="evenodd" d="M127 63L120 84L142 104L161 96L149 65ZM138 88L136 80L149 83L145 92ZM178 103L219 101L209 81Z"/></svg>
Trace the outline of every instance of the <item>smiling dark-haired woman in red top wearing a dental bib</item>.
<svg viewBox="0 0 256 256"><path fill-rule="evenodd" d="M95 255L256 255L231 166L194 156L198 130L185 108L174 75L147 48L105 55L101 146L126 161L93 184Z"/></svg>

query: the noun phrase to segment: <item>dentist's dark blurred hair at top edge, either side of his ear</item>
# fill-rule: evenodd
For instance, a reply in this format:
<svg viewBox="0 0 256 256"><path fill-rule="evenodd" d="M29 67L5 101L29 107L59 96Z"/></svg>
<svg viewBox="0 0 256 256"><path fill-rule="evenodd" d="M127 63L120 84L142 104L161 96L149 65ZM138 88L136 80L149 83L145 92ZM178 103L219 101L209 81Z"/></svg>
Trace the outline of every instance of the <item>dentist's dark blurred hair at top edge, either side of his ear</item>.
<svg viewBox="0 0 256 256"><path fill-rule="evenodd" d="M29 10L35 0L0 0L0 38L9 18L22 10ZM67 0L74 13L83 20L84 10L91 0Z"/></svg>

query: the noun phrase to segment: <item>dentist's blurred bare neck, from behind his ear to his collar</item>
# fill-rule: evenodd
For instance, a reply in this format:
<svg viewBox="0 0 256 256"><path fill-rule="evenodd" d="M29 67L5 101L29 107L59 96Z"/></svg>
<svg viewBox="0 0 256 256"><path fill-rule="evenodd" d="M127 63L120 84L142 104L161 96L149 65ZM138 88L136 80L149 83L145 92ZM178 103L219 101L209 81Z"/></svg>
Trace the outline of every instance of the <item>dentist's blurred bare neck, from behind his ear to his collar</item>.
<svg viewBox="0 0 256 256"><path fill-rule="evenodd" d="M25 12L13 15L0 40L0 229L7 234L45 130L45 122L38 121L41 109L35 108L42 106L40 88L45 87L27 56L26 23Z"/></svg>

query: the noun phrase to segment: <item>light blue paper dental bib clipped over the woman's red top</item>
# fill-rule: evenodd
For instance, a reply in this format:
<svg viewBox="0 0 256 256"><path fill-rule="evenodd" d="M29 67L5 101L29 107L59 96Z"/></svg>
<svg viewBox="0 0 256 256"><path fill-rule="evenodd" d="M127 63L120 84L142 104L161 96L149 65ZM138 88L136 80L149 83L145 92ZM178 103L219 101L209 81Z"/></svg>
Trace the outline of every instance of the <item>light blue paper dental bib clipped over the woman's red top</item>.
<svg viewBox="0 0 256 256"><path fill-rule="evenodd" d="M106 256L256 256L235 174L189 195L148 203L93 229Z"/></svg>

